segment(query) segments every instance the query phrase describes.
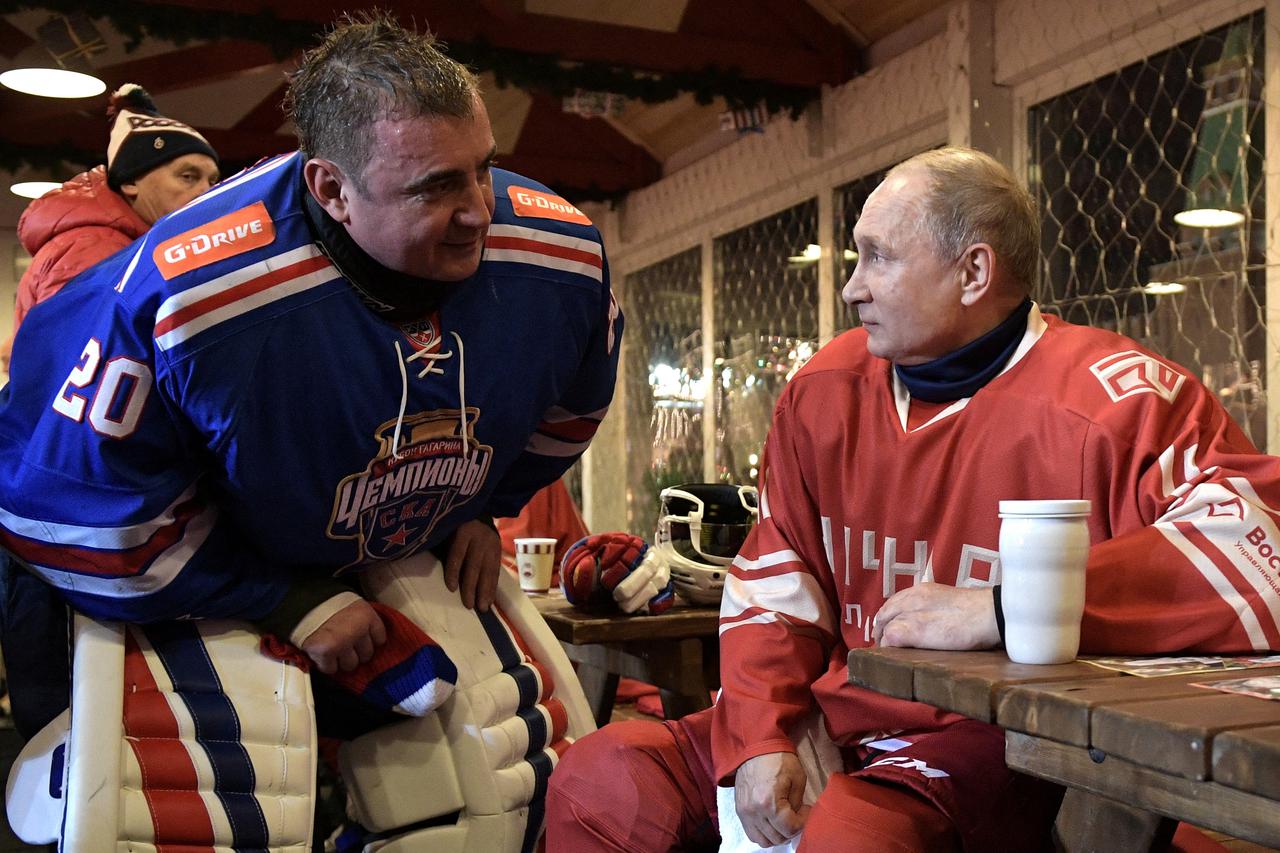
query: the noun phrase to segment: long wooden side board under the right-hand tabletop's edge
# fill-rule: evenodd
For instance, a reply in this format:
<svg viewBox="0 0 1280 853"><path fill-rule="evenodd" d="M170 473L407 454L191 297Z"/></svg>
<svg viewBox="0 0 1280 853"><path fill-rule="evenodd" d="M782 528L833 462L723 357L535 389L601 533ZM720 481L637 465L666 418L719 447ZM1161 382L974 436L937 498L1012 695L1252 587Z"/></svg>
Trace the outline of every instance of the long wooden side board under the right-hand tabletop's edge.
<svg viewBox="0 0 1280 853"><path fill-rule="evenodd" d="M1261 702L1261 699L1260 699ZM1098 760L1091 757L1094 756ZM1280 847L1275 800L1212 781L1142 767L1097 751L1005 733L1005 761L1014 770L1080 788L1132 807L1185 820L1234 838Z"/></svg>

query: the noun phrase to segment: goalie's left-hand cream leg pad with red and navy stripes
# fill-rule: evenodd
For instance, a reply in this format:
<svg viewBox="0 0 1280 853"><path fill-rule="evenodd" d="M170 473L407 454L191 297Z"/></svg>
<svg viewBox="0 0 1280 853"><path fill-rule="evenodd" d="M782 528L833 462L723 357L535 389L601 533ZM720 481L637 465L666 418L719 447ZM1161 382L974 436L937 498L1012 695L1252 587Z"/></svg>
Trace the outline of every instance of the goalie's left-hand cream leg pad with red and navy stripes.
<svg viewBox="0 0 1280 853"><path fill-rule="evenodd" d="M239 622L77 616L74 630L65 806L37 834L51 829L76 853L310 850L316 749L305 672L259 652L259 634ZM29 795L24 772L10 789ZM13 808L13 790L8 799Z"/></svg>

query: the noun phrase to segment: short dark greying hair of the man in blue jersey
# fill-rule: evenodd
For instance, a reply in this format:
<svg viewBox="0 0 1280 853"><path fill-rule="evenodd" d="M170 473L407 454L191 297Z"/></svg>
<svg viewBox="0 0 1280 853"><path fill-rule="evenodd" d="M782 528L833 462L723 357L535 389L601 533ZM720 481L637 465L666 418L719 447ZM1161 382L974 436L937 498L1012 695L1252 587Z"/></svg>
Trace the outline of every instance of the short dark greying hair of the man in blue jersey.
<svg viewBox="0 0 1280 853"><path fill-rule="evenodd" d="M358 186L374 124L470 118L479 92L475 74L445 56L430 33L407 29L385 12L365 12L340 18L302 55L284 109L303 155L333 160Z"/></svg>

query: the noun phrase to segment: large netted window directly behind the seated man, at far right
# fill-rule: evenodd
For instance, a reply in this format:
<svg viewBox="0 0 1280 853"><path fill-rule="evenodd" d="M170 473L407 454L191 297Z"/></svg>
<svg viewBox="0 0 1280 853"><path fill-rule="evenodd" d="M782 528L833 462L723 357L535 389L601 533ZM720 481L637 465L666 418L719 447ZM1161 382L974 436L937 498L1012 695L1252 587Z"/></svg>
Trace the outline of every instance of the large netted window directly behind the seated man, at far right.
<svg viewBox="0 0 1280 853"><path fill-rule="evenodd" d="M1032 106L1037 300L1197 374L1266 443L1262 15ZM1225 211L1215 216L1190 211Z"/></svg>

